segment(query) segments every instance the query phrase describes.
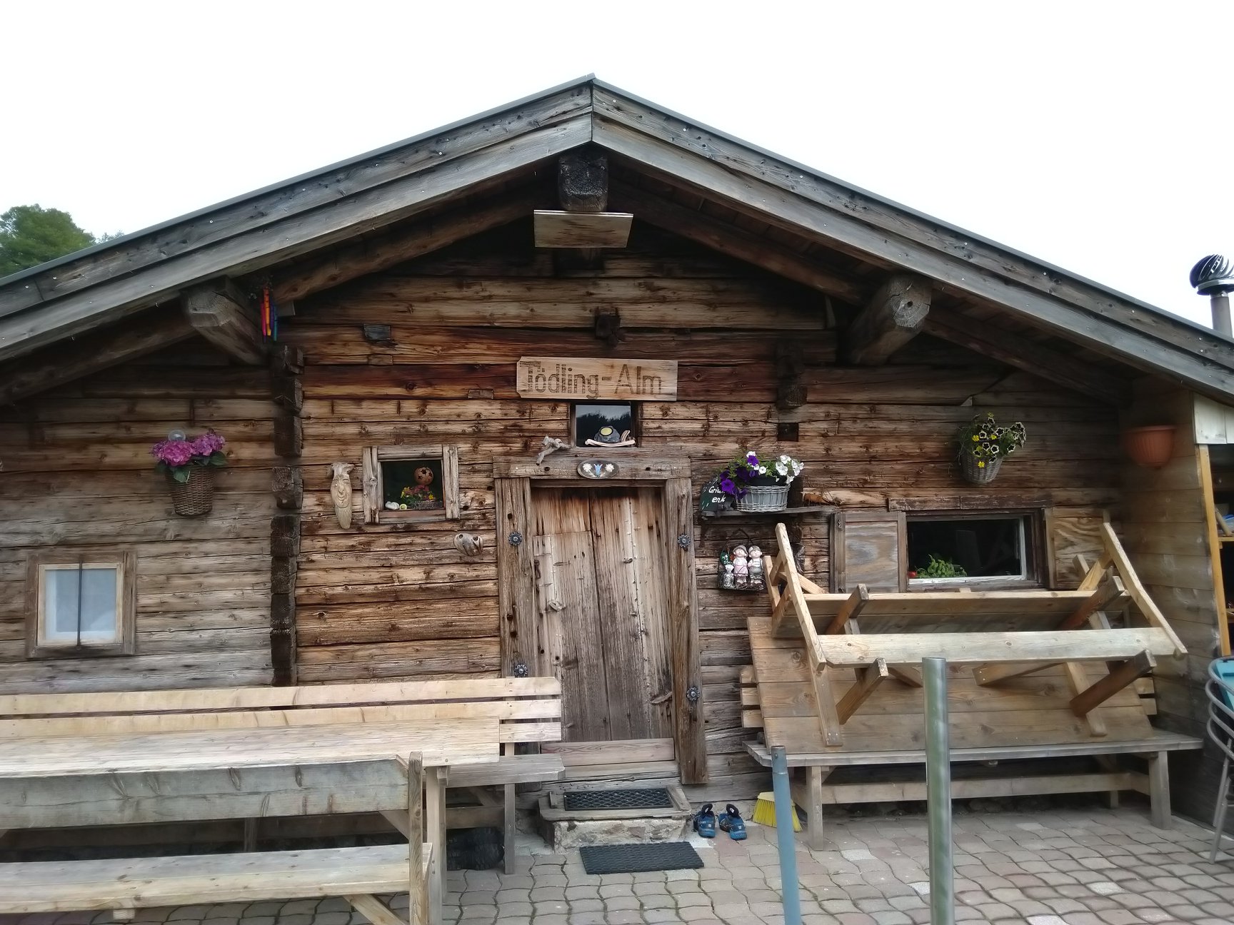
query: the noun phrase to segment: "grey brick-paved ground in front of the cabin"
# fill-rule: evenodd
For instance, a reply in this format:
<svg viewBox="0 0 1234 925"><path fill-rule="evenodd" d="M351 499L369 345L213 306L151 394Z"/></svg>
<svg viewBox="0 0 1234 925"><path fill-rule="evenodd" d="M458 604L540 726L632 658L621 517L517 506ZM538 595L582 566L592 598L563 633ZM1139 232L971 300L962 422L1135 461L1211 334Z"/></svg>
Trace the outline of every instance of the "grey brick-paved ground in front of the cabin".
<svg viewBox="0 0 1234 925"><path fill-rule="evenodd" d="M721 832L721 835L723 835ZM824 851L798 841L805 925L929 921L923 816L835 820ZM956 920L1023 925L1234 923L1234 858L1207 860L1208 832L1146 812L1056 809L958 814ZM701 871L587 876L576 851L522 839L518 873L449 874L447 925L780 925L775 832L698 842ZM406 898L395 903L406 908ZM97 915L2 916L0 925L84 925ZM143 910L183 925L359 925L341 899Z"/></svg>

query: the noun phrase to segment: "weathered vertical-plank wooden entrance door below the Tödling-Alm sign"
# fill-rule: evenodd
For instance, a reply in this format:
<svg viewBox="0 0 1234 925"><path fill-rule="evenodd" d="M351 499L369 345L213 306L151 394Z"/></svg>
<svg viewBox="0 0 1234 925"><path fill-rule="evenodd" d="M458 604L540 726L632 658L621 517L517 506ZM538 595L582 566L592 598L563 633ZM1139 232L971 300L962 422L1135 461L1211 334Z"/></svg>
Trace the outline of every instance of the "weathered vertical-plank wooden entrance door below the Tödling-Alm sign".
<svg viewBox="0 0 1234 925"><path fill-rule="evenodd" d="M673 735L659 488L532 492L536 613L570 742Z"/></svg>

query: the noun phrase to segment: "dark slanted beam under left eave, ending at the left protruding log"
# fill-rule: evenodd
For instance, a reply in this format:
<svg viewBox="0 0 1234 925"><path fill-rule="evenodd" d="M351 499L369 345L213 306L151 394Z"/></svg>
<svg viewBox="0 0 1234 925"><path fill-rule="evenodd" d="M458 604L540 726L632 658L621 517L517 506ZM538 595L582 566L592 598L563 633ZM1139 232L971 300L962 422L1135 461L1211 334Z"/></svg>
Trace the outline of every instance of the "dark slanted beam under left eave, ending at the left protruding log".
<svg viewBox="0 0 1234 925"><path fill-rule="evenodd" d="M67 340L6 364L0 372L0 405L89 376L193 337L188 318L154 308L105 331Z"/></svg>

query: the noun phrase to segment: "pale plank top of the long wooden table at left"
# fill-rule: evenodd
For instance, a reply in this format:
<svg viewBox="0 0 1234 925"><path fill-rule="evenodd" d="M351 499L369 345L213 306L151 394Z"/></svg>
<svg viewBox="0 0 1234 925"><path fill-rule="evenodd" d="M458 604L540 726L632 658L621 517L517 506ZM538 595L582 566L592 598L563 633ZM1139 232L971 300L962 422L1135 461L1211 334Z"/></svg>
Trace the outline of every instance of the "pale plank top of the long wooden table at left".
<svg viewBox="0 0 1234 925"><path fill-rule="evenodd" d="M426 767L500 757L495 717L6 739L0 778L194 771L421 755Z"/></svg>

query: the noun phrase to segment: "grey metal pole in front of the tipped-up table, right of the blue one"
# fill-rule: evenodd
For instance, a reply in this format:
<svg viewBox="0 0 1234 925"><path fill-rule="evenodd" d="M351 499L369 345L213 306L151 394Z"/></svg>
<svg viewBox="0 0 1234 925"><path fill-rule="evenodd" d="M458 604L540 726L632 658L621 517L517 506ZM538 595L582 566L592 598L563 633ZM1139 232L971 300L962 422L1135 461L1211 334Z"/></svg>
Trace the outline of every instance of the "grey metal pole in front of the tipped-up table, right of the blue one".
<svg viewBox="0 0 1234 925"><path fill-rule="evenodd" d="M926 799L929 809L932 925L954 925L951 865L951 744L946 729L946 659L922 659L926 686ZM779 797L776 797L779 803Z"/></svg>

